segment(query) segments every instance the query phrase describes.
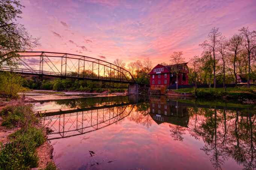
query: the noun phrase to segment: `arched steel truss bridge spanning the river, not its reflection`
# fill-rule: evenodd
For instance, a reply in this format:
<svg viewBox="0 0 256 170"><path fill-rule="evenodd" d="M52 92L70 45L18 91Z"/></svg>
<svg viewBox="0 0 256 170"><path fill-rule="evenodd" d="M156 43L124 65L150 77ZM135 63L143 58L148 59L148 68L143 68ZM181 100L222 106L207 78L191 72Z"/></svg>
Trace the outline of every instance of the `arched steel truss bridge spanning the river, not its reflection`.
<svg viewBox="0 0 256 170"><path fill-rule="evenodd" d="M79 79L134 84L129 71L113 63L83 55L60 52L26 51L17 58L18 68L0 70L39 78Z"/></svg>

